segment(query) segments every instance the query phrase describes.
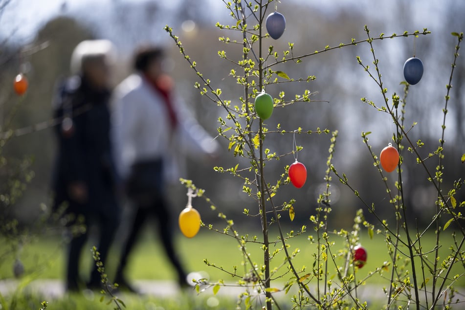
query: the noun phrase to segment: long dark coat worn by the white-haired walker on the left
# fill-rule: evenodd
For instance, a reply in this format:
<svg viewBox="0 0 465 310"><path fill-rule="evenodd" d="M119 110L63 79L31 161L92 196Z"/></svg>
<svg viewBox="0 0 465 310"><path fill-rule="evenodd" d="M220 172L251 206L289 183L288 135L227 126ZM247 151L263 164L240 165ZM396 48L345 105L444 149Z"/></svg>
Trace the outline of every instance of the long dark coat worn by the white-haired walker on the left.
<svg viewBox="0 0 465 310"><path fill-rule="evenodd" d="M53 190L55 208L68 202L71 212L109 211L116 206L114 190L116 170L111 156L109 90L92 89L86 79L71 77L58 89L54 116L72 120L72 129L56 126L58 155ZM69 125L69 124L68 124ZM84 204L70 199L68 186L81 182L88 188Z"/></svg>

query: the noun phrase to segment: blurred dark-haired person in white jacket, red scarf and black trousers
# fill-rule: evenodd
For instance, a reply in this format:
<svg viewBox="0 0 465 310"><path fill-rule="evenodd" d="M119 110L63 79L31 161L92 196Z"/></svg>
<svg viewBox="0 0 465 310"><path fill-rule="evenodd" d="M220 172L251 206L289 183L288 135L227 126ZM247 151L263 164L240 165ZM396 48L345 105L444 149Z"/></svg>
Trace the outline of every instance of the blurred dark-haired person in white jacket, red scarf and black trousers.
<svg viewBox="0 0 465 310"><path fill-rule="evenodd" d="M115 158L135 207L115 282L130 290L133 288L124 276L124 269L142 225L150 216L158 222L159 236L176 269L179 285L186 286L186 273L173 243L177 225L170 218L166 186L179 182L187 154L211 158L218 149L217 142L177 97L172 79L163 71L163 60L162 49L139 48L133 61L136 72L114 91Z"/></svg>

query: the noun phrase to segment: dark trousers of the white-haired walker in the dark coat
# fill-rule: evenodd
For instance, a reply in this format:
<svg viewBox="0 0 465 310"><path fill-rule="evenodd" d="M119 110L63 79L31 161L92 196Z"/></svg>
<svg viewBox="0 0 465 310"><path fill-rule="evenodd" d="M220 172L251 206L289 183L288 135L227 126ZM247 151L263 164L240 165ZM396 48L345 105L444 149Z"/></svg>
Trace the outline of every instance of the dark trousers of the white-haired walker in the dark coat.
<svg viewBox="0 0 465 310"><path fill-rule="evenodd" d="M78 215L79 216L79 215ZM99 241L96 244L97 250L100 253L100 259L105 264L113 242L116 230L119 224L119 209L115 206L112 210L98 210L95 212L86 212L81 214L84 216L84 224L86 231L83 234L73 236L69 243L69 251L67 257L66 283L68 289L79 288L79 261L83 252L84 244L89 238L89 226L95 223L99 229ZM88 249L90 255L90 248ZM100 274L95 264L90 274L89 285L98 286L100 284Z"/></svg>

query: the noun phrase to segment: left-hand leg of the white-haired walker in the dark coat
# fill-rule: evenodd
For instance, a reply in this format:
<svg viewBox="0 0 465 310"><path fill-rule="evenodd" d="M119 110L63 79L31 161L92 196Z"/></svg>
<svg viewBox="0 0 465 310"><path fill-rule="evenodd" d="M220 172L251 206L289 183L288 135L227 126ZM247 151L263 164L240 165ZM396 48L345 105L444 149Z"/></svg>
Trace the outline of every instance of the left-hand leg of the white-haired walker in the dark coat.
<svg viewBox="0 0 465 310"><path fill-rule="evenodd" d="M68 246L68 257L67 257L67 267L66 267L66 290L77 291L79 290L80 281L79 281L79 260L81 257L81 252L84 244L87 241L88 237L88 225L89 221L86 219L84 221L85 231L84 232L75 232L75 235L71 236L71 241ZM75 221L71 227L69 227L70 233L72 233L73 226L79 225Z"/></svg>

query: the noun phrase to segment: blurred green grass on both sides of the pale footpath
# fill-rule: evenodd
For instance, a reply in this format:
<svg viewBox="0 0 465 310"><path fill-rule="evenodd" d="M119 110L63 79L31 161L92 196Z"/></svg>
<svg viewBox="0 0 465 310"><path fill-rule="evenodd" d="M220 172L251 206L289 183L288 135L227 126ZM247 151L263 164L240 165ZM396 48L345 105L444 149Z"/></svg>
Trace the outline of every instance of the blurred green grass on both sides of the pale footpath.
<svg viewBox="0 0 465 310"><path fill-rule="evenodd" d="M294 228L295 229L295 228ZM296 229L297 230L297 229ZM440 252L442 255L448 252L447 247L452 244L452 238L449 237L451 232L443 234L444 241ZM258 234L258 232L257 232ZM308 266L307 272L313 263L313 253L316 244L311 244L307 237L309 233L295 237L290 240L289 251L292 252L296 248L300 249L300 253L294 260L294 264L297 269L302 266ZM334 239L336 245L332 248L335 251L340 249L343 244L341 239L333 234L331 238ZM375 235L373 239L368 237L365 232L361 236L361 243L368 251L367 264L359 269L356 273L357 279L362 279L367 275L369 271L374 270L378 266L382 266L383 262L389 261L389 257L386 250L384 239L380 235ZM199 235L193 239L187 239L181 235L177 235L176 238L177 247L179 249L180 256L188 271L206 271L210 276L211 282L216 282L219 279L223 279L225 282L234 282L231 276L225 274L218 268L206 266L203 263L204 259L208 259L210 263L215 263L216 266L222 266L224 269L232 271L233 266L238 266L238 272L242 272L243 256L239 250L239 246L231 237L223 236L219 233L202 229ZM434 246L434 235L426 235L422 239L422 247L424 251L430 250ZM88 274L90 267L92 266L90 247L92 243L86 246L86 251L82 257L83 264L83 276ZM111 260L107 265L108 273L110 276L113 274L116 263L118 246L115 244L111 251ZM280 247L277 244L276 247ZM271 246L271 251L275 249L275 245ZM26 273L35 271L34 277L44 279L63 279L64 277L64 260L65 260L66 246L63 244L60 238L39 238L36 242L26 244L21 252L21 259L25 266ZM250 243L247 246L247 251L251 254L253 260L260 263L262 260L262 250L259 244ZM430 254L431 255L431 254ZM11 255L13 256L13 255ZM443 256L442 256L443 258ZM273 266L279 266L284 259L284 256L280 254L274 261ZM339 264L342 265L342 258L339 259ZM0 278L12 278L13 277L13 258L10 257L0 262ZM420 264L418 264L420 265ZM329 264L330 272L334 274L334 267ZM248 268L248 267L247 267ZM389 277L391 268L384 272L384 277ZM418 266L420 270L420 266ZM154 280L171 280L175 279L173 269L169 265L165 258L161 244L155 236L155 233L150 229L146 229L141 238L140 242L134 249L132 259L128 266L128 277L131 280L136 279L154 279ZM248 271L248 270L247 270ZM464 270L462 266L457 266L452 274L463 274ZM284 282L288 280L289 276L285 276L276 282L274 286L282 288ZM462 278L463 279L463 278ZM465 286L464 281L460 279L459 285ZM313 281L314 282L314 281ZM383 279L380 275L373 276L368 282L376 286L388 286L389 282ZM312 284L310 284L312 285ZM380 292L380 289L376 289ZM28 295L30 294L30 295ZM282 295L282 293L280 293ZM30 293L27 289L20 291L20 298L15 301L16 308L11 309L38 309L40 302L44 299L43 296L38 296L37 293ZM284 297L284 295L282 295ZM280 300L282 297L279 297ZM373 296L372 296L373 297ZM1 300L0 304L8 305L11 302L13 296L6 296L6 302ZM48 297L45 297L48 298ZM232 296L213 296L212 292L203 293L197 296L195 291L190 290L187 292L181 292L179 295L169 295L163 298L155 296L137 296L131 294L125 294L121 297L124 302L129 306L128 309L133 310L197 310L197 309L234 309L236 305L235 298ZM113 309L112 306L108 306L105 303L99 303L99 293L79 294L79 295L65 295L59 299L50 299L50 305L47 309L58 310L104 310ZM8 302L10 300L10 302ZM108 299L107 299L108 300ZM286 298L281 300L282 306L284 303L289 302ZM261 308L257 305L257 309ZM2 309L9 309L3 307Z"/></svg>

